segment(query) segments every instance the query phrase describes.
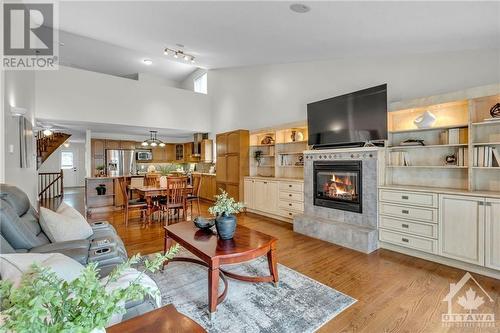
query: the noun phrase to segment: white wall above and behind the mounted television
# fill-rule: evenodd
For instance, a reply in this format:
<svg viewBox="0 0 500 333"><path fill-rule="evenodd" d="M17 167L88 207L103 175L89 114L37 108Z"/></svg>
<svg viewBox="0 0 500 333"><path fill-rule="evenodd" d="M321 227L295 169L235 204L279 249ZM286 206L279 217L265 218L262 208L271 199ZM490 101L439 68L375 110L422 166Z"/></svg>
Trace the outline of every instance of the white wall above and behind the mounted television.
<svg viewBox="0 0 500 333"><path fill-rule="evenodd" d="M306 104L387 83L389 102L500 82L500 50L211 70L215 133L303 121Z"/></svg>

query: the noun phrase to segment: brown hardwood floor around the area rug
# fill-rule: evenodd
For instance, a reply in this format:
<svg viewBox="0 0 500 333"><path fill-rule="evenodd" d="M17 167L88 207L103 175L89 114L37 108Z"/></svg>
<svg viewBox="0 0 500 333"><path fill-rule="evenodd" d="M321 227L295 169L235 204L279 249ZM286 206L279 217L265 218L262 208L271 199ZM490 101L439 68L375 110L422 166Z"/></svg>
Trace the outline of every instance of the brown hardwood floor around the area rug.
<svg viewBox="0 0 500 333"><path fill-rule="evenodd" d="M65 194L64 200L78 207L76 201L83 200L83 194ZM204 214L207 208L204 203ZM92 219L112 223L130 255L163 248L159 222L141 223L137 214L125 227L121 212ZM382 249L366 255L297 234L290 224L255 214L240 214L238 223L278 238L279 263L358 300L319 332L500 332L499 280L472 274L493 299L490 303L483 297L480 309L495 314L496 328L443 327L441 315L447 311L443 299L450 283L457 283L465 271ZM457 312L464 309L458 306Z"/></svg>

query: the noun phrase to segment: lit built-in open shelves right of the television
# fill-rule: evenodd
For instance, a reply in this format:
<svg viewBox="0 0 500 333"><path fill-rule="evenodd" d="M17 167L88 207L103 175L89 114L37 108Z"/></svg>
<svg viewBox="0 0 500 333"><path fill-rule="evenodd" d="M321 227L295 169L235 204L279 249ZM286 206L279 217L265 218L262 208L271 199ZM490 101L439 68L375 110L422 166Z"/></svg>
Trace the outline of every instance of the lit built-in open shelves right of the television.
<svg viewBox="0 0 500 333"><path fill-rule="evenodd" d="M385 185L500 192L500 167L474 161L474 150L479 147L500 150L500 119L487 120L491 119L491 107L500 102L500 94L477 96L395 103L388 114ZM430 128L417 128L413 121L426 111L436 117L435 123ZM448 138L443 132L454 129L460 133L458 142L443 140ZM401 145L408 139L424 140L425 145ZM464 154L463 165L446 162L447 156L458 159L460 154Z"/></svg>

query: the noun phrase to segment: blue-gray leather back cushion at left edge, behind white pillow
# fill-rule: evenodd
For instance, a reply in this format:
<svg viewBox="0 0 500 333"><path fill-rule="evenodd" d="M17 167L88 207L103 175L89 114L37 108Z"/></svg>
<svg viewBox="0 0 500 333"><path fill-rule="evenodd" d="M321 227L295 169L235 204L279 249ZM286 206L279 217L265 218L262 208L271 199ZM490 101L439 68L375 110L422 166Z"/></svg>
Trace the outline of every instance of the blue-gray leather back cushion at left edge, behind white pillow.
<svg viewBox="0 0 500 333"><path fill-rule="evenodd" d="M36 219L29 214L31 213L28 212L20 218L6 200L0 199L0 233L16 250L31 249L49 243Z"/></svg>

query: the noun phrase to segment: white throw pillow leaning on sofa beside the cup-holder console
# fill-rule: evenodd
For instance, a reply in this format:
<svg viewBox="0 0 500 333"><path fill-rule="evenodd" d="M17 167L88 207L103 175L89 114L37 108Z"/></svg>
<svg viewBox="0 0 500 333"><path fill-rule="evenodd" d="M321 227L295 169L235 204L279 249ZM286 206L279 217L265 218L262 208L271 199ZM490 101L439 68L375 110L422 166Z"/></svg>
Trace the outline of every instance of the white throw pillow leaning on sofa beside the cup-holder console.
<svg viewBox="0 0 500 333"><path fill-rule="evenodd" d="M59 214L40 207L40 226L51 242L86 239L93 230L83 216Z"/></svg>

